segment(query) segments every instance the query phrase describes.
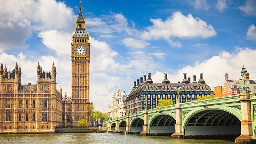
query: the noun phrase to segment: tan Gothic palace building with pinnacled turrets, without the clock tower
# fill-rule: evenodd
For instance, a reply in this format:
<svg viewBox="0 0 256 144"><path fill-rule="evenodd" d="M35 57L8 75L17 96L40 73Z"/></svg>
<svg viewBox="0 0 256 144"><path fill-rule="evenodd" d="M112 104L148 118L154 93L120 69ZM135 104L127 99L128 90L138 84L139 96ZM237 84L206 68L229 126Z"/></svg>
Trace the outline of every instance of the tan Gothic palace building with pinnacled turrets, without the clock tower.
<svg viewBox="0 0 256 144"><path fill-rule="evenodd" d="M36 84L21 84L21 67L0 68L0 132L54 132L62 125L62 90L52 72L37 65Z"/></svg>

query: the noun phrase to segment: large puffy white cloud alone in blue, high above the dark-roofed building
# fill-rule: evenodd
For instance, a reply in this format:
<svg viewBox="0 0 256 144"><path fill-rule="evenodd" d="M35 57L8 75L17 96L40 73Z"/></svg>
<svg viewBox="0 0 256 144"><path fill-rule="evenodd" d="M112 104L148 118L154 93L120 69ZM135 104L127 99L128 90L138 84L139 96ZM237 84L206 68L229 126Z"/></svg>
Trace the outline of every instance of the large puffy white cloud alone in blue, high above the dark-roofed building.
<svg viewBox="0 0 256 144"><path fill-rule="evenodd" d="M164 38L171 46L180 47L180 42L173 42L172 37L179 38L208 38L216 36L216 31L211 25L200 18L194 18L191 14L184 16L181 12L174 12L171 17L163 21L162 19L150 19L153 26L141 33L141 37L150 39Z"/></svg>

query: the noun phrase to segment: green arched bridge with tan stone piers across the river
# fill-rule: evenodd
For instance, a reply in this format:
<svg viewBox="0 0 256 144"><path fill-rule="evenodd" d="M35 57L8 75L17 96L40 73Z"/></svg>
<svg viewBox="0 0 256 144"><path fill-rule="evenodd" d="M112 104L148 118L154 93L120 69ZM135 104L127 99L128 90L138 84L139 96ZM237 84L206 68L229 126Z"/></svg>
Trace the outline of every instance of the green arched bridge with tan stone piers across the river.
<svg viewBox="0 0 256 144"><path fill-rule="evenodd" d="M256 92L191 101L144 110L108 121L108 131L142 136L170 134L172 139L256 138Z"/></svg>

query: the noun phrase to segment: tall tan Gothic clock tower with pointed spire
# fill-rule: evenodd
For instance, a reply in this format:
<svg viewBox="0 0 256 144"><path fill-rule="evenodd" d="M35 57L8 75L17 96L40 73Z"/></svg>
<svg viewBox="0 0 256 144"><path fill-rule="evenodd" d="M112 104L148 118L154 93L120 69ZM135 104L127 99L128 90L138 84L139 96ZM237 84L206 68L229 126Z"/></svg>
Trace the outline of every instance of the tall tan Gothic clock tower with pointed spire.
<svg viewBox="0 0 256 144"><path fill-rule="evenodd" d="M80 4L76 20L76 32L71 41L72 61L72 121L74 125L81 119L89 120L89 74L90 74L90 41L85 31L85 22Z"/></svg>

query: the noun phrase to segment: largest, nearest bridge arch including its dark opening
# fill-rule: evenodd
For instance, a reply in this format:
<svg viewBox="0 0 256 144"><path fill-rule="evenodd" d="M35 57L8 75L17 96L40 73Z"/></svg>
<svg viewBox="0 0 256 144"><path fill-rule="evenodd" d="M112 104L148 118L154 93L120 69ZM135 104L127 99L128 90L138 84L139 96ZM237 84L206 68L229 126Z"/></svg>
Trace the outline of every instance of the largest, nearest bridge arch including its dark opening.
<svg viewBox="0 0 256 144"><path fill-rule="evenodd" d="M230 107L190 111L183 120L184 135L240 135L241 113Z"/></svg>

